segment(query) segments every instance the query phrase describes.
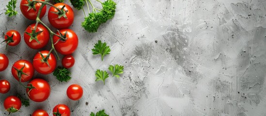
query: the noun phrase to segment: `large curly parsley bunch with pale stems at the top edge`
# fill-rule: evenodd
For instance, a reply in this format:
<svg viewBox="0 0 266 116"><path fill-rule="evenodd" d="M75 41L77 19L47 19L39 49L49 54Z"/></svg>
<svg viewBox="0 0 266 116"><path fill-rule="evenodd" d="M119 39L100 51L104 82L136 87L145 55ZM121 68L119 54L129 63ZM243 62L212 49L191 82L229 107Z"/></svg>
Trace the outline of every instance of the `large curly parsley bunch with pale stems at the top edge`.
<svg viewBox="0 0 266 116"><path fill-rule="evenodd" d="M90 0L89 2L91 3ZM89 16L85 17L84 22L81 23L81 26L88 32L97 32L101 24L107 22L109 19L112 19L114 17L116 3L113 0L99 2L102 4L103 8L97 9L91 4L93 7L92 13L90 13Z"/></svg>

